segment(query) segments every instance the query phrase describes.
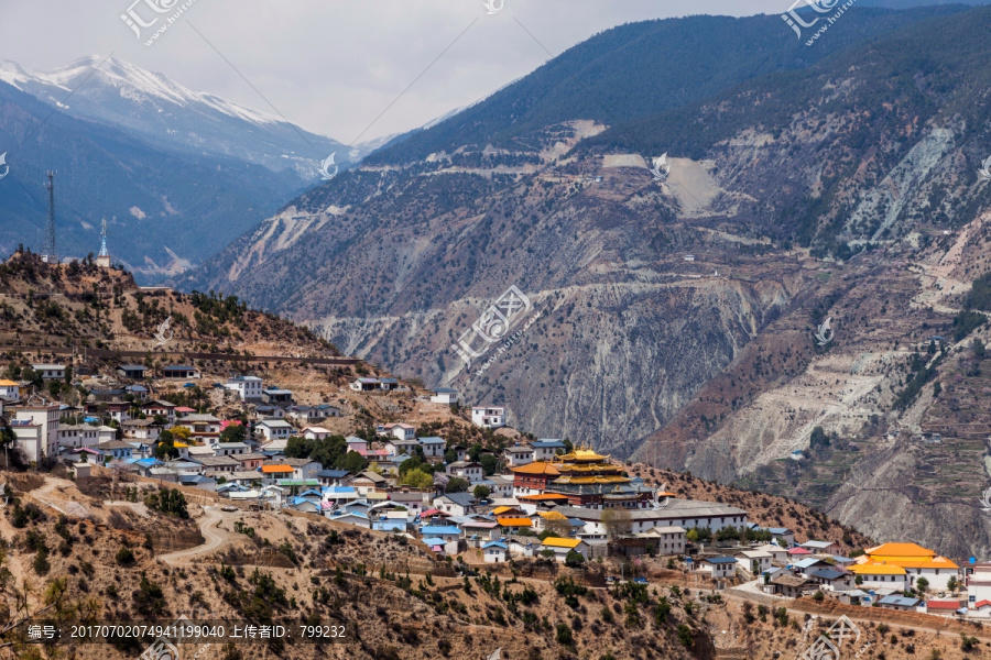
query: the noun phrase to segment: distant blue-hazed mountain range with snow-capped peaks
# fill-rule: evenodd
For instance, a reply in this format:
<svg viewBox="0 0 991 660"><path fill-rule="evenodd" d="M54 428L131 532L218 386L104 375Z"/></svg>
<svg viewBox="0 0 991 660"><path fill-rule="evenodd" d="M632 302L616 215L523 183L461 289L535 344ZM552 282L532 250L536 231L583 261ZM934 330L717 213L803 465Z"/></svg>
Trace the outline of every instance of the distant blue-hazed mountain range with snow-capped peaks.
<svg viewBox="0 0 991 660"><path fill-rule="evenodd" d="M44 172L54 169L59 256L96 252L106 218L113 257L139 282L159 282L317 183L331 153L345 170L390 139L349 150L115 58L51 72L2 62L0 153L10 174L0 179L0 251L42 249Z"/></svg>

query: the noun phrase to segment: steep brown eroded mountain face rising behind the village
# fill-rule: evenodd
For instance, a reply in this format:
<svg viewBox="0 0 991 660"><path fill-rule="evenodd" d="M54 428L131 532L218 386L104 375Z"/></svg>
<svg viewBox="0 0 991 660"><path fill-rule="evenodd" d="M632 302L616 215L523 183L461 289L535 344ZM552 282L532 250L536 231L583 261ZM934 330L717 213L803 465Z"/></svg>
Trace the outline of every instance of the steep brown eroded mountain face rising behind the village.
<svg viewBox="0 0 991 660"><path fill-rule="evenodd" d="M466 403L507 404L538 435L798 493L878 540L987 549L972 506L977 531L958 541L925 524L987 483L972 438L966 459L936 463L939 483L966 464L973 486L930 483L926 502L905 475L929 465L912 438L937 414L933 373L954 363L930 372L914 353L954 336L959 296L988 267L973 257L991 204L978 174L991 155L991 10L850 10L812 48L763 20L817 61L658 108L640 101L688 89L686 67L709 80L707 52L665 77L623 68L620 33L605 33L300 197L181 284L306 320ZM694 34L696 21L722 25L693 19ZM627 26L638 52L651 25ZM837 35L846 47L817 51ZM635 110L612 119L610 102ZM662 153L669 169L650 160ZM971 271L950 276L954 260ZM525 299L505 299L512 285ZM522 312L487 343L501 334L491 305ZM835 339L818 346L827 317ZM829 442L810 449L816 427Z"/></svg>

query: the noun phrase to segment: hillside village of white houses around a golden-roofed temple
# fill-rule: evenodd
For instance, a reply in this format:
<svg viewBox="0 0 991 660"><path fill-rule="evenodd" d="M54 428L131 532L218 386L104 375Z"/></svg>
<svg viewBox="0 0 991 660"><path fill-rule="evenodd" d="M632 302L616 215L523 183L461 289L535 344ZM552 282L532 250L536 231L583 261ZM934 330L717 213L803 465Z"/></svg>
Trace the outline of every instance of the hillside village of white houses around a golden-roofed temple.
<svg viewBox="0 0 991 660"><path fill-rule="evenodd" d="M415 399L501 442L423 420L367 426L353 402L298 404L292 391L248 374L206 385L184 364L118 364L76 377L72 365L11 361L3 373L8 466L77 482L140 479L149 496L195 488L229 510L322 516L422 543L460 571L522 558L578 568L620 557L630 572L608 582L646 583L653 563L695 584L772 600L991 618L991 562L956 563L912 542L847 552L837 541L798 542L793 530L761 527L741 508L649 486L567 439L512 431L504 407L461 409L449 388L417 396L396 378L356 375L341 394ZM84 402L58 400L64 383ZM174 403L184 400L200 405ZM225 405L210 408L216 400ZM353 435L339 431L348 427Z"/></svg>

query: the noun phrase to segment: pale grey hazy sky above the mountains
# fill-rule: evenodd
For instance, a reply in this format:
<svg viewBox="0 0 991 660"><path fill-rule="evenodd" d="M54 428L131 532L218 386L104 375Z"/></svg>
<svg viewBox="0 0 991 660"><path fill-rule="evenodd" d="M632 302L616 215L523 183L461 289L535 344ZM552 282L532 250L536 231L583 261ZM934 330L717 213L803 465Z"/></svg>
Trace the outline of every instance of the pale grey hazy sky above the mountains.
<svg viewBox="0 0 991 660"><path fill-rule="evenodd" d="M143 30L139 41L120 18L134 0L0 0L0 58L44 70L112 52L192 89L271 112L261 94L288 120L349 144L362 132L360 140L367 141L422 125L546 62L547 53L521 24L557 55L627 22L780 13L791 6L789 0L504 0L489 15L483 0L139 0L133 11L150 22L190 1L181 19L145 46L164 19ZM172 11L157 14L145 2Z"/></svg>

